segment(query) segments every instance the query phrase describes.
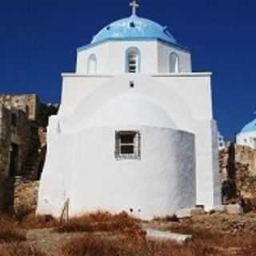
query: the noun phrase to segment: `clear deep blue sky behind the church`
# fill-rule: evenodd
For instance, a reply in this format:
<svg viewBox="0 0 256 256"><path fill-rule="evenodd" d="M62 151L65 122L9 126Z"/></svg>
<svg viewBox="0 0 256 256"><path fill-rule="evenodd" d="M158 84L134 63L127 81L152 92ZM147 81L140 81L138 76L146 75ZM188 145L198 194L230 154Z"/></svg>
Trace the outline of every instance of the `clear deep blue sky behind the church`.
<svg viewBox="0 0 256 256"><path fill-rule="evenodd" d="M0 2L0 93L36 93L59 102L62 72L78 46L118 18L130 0ZM227 139L254 118L256 1L139 1L138 15L170 28L192 52L194 71L212 71L214 117ZM186 93L186 92L184 92Z"/></svg>

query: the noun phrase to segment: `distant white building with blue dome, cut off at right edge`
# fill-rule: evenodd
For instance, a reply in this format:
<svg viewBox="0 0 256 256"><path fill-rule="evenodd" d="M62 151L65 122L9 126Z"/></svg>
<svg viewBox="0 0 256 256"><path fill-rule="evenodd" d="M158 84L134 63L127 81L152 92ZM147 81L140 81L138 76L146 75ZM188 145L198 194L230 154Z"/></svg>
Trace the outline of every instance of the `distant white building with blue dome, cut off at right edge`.
<svg viewBox="0 0 256 256"><path fill-rule="evenodd" d="M239 134L237 134L238 145L250 146L256 150L256 118L246 124Z"/></svg>

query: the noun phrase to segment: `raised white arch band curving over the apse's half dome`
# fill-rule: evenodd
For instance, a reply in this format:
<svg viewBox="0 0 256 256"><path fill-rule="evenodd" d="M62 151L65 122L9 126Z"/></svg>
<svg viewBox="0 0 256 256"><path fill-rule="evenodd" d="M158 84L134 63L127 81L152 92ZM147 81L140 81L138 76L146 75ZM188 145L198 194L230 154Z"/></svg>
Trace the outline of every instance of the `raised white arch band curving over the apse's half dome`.
<svg viewBox="0 0 256 256"><path fill-rule="evenodd" d="M86 78L82 78L82 81L80 81L81 86L83 86L83 81L85 80ZM130 88L130 81L134 82L133 88ZM70 88L72 88L71 84ZM69 118L67 118L65 110L68 102L67 104L62 102L62 117L60 119L63 132L69 133L75 129L82 129L83 126L86 126L86 122L88 122L91 116L102 109L107 102L114 98L122 97L122 95L130 93L130 91L134 92L134 94L142 95L148 101L155 103L159 108L165 110L166 114L170 116L179 129L194 130L191 110L184 99L173 90L172 86L159 82L158 79L147 75L126 74L111 78L108 82L97 86L95 90L78 102L78 106L74 110L67 110L67 112L72 113ZM67 95L66 99L68 97L69 95ZM69 98L70 102L75 100L76 98ZM115 110L118 111L118 107ZM118 113L122 121L122 112Z"/></svg>

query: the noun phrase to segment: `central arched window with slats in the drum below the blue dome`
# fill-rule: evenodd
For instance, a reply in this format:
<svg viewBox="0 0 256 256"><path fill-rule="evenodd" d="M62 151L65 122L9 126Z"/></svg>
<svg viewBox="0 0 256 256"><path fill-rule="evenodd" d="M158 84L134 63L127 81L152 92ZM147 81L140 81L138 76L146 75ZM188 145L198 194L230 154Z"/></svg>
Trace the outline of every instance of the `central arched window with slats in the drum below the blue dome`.
<svg viewBox="0 0 256 256"><path fill-rule="evenodd" d="M126 72L138 73L140 72L141 54L138 48L130 48L126 51Z"/></svg>

